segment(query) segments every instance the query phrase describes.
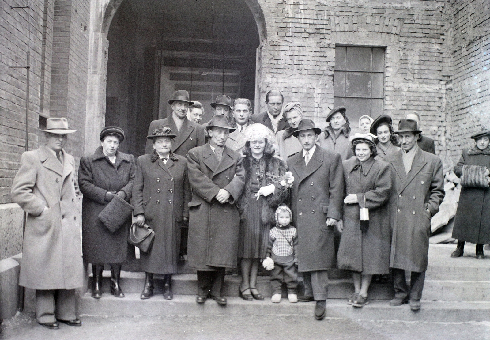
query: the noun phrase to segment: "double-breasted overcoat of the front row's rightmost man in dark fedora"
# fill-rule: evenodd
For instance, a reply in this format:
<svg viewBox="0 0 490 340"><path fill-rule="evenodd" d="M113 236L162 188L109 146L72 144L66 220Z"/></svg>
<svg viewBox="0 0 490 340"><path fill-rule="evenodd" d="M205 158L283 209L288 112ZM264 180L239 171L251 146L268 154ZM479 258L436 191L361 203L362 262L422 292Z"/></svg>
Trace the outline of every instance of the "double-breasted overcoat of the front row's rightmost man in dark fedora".
<svg viewBox="0 0 490 340"><path fill-rule="evenodd" d="M384 159L392 167L390 267L422 272L427 269L430 219L444 198L442 162L417 146L412 169L406 173L402 152Z"/></svg>

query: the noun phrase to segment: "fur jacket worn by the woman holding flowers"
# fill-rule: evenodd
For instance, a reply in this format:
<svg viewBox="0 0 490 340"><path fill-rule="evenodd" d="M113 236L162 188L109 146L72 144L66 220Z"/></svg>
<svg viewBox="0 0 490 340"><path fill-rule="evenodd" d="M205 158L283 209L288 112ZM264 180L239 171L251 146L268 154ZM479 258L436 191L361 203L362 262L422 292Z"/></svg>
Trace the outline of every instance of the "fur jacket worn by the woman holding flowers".
<svg viewBox="0 0 490 340"><path fill-rule="evenodd" d="M243 167L245 168L245 187L242 192L242 195L238 199L238 211L240 213L240 219L245 220L246 214L248 210L248 200L250 199L251 188L252 188L252 175L255 176L256 169L253 165L253 160L251 157L243 158ZM261 182L261 187L271 184L270 179L267 178L267 173L273 173L276 175L283 175L287 171L286 163L274 156L262 156L259 160L259 169L264 172L264 178ZM269 196L263 197L262 200L262 211L261 211L261 220L262 224L269 224L273 226L275 224L275 210L279 206L279 204L283 203L287 200L289 196L289 188L283 187L279 184L275 185L275 191L273 194Z"/></svg>

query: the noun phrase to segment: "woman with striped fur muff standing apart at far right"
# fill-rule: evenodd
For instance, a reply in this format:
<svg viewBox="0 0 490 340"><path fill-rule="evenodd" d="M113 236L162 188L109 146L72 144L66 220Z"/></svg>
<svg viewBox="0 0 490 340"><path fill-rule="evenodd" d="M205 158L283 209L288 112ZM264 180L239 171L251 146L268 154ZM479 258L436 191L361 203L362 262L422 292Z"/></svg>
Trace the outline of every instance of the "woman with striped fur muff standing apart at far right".
<svg viewBox="0 0 490 340"><path fill-rule="evenodd" d="M454 173L461 178L461 194L454 218L453 238L458 247L451 257L463 255L465 242L476 243L476 258L484 259L483 245L490 243L490 131L471 136L476 146L463 150ZM477 187L477 183L486 188Z"/></svg>

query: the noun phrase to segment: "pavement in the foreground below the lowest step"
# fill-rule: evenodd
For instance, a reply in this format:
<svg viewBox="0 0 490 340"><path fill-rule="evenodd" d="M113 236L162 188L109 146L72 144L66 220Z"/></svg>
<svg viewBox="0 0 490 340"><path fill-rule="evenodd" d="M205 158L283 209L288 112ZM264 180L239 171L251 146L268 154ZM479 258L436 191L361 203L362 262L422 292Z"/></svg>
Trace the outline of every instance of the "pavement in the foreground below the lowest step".
<svg viewBox="0 0 490 340"><path fill-rule="evenodd" d="M5 340L490 340L490 322L403 322L298 315L83 317L82 327L49 330L33 314L1 325Z"/></svg>

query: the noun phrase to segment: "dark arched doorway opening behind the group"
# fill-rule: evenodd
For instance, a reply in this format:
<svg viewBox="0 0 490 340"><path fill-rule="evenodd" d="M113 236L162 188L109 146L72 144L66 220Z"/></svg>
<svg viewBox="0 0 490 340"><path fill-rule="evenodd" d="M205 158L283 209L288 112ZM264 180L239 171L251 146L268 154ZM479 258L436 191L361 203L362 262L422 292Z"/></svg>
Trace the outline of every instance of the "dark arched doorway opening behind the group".
<svg viewBox="0 0 490 340"><path fill-rule="evenodd" d="M256 49L264 34L247 2L121 3L107 34L105 125L126 131L123 151L144 152L148 125L171 113L167 100L175 90L204 105L203 121L217 95L255 100Z"/></svg>

